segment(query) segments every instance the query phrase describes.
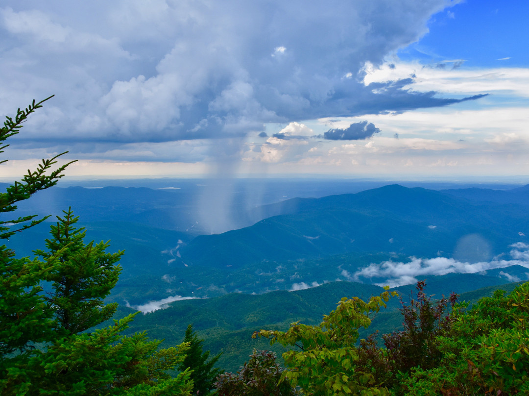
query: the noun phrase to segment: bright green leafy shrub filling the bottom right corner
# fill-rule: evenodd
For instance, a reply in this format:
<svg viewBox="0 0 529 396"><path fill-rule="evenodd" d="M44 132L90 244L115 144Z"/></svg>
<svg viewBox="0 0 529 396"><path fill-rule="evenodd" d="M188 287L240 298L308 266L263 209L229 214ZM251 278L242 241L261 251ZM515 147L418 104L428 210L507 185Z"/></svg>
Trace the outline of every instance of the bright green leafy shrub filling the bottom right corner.
<svg viewBox="0 0 529 396"><path fill-rule="evenodd" d="M437 343L436 367L415 368L402 378L408 394L528 394L529 283L509 295L497 291L465 312L460 304L452 325ZM421 389L422 393L417 393Z"/></svg>

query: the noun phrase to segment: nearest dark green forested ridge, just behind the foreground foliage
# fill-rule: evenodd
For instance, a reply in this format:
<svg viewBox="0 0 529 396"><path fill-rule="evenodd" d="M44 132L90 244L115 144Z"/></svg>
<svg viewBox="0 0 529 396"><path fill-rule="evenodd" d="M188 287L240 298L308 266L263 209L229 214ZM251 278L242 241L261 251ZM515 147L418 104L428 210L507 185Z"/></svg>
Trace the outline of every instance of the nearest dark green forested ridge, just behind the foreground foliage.
<svg viewBox="0 0 529 396"><path fill-rule="evenodd" d="M476 302L483 296L490 296L497 289L510 292L518 283L504 284L499 278L477 274L433 276L426 278L425 291L434 299L448 298L451 292L460 295L461 301ZM480 285L476 289L472 285ZM399 286L395 289L409 302L415 285ZM212 299L175 301L168 308L137 316L129 332L144 329L155 338L163 339L164 346L177 344L183 339L188 323L205 339L204 348L213 354L222 352L219 366L223 370L238 370L252 348L270 349L264 340L252 339L254 331L263 328L287 330L290 323L300 321L309 325L320 323L324 314L336 308L343 297L358 297L366 301L384 289L376 285L354 282L333 282L311 289L286 292L275 291L261 295L227 294ZM402 330L402 314L398 299L388 302L388 308L373 317L368 329L362 329L360 336L366 338L375 331L388 334ZM120 307L117 316L134 312ZM276 353L284 348L273 347Z"/></svg>

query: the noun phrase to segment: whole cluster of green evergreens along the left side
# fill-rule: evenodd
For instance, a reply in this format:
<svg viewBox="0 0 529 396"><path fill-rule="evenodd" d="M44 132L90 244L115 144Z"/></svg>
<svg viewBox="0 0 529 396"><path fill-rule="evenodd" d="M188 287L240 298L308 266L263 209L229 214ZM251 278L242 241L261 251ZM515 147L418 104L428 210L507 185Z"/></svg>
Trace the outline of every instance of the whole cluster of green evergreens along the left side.
<svg viewBox="0 0 529 396"><path fill-rule="evenodd" d="M19 109L15 121L7 118L0 140L17 133L41 103ZM56 184L68 165L47 174L56 158L43 160L22 183L0 194L0 213ZM134 314L89 330L116 309L103 299L116 284L121 268L114 264L123 253L105 253L104 242L86 245L71 209L64 213L51 226L48 250L35 251L42 260L16 258L12 249L0 246L0 395L189 395L189 370L175 378L168 374L183 361L187 344L158 350L160 341L149 341L145 332L123 336ZM44 219L0 221L0 237ZM43 293L43 281L51 283L51 292Z"/></svg>

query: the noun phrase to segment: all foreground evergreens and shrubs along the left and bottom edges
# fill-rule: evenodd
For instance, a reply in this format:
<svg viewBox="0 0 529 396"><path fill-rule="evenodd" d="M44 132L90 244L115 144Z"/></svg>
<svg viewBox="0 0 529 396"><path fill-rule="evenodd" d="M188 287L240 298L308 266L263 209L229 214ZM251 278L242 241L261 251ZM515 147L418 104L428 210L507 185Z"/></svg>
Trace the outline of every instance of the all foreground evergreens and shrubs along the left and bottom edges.
<svg viewBox="0 0 529 396"><path fill-rule="evenodd" d="M43 102L7 117L0 142L18 133ZM70 164L58 166L61 155L2 192L0 213L15 212L18 202L54 186ZM109 242L86 243L71 208L50 227L45 249L34 250L33 259L17 257L9 237L45 219L15 214L0 220L6 241L0 246L2 395L529 393L529 283L470 306L455 294L433 300L418 282L412 298L400 303L403 330L364 338L360 331L398 293L343 298L319 324L294 322L286 331L253 334L284 346L281 361L249 350L238 372L221 374L215 367L220 356L202 350L204 340L191 326L181 343L161 349L145 331L127 334L136 313L106 325L117 311L104 300L120 275L122 252L107 253Z"/></svg>

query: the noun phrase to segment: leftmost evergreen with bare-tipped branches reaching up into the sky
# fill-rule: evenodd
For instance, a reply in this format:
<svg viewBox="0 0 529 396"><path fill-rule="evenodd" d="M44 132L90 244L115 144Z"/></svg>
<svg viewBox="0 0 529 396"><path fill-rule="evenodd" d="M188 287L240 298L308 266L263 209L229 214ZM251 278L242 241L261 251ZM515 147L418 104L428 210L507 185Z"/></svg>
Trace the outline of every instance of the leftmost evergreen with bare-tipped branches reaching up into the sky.
<svg viewBox="0 0 529 396"><path fill-rule="evenodd" d="M42 103L33 103L24 110L18 109L15 119L6 117L4 126L0 128L0 144L19 133L24 121L35 110L42 107ZM9 145L0 147L0 154ZM16 203L29 199L40 190L45 190L57 184L63 170L71 164L54 168L57 158L66 154L63 152L51 159L42 160L36 170L28 170L22 181L16 181L0 193L0 214L16 210ZM0 164L7 159L0 160ZM73 162L73 161L72 161ZM0 239L7 240L16 232L28 229L44 221L47 217L35 219L36 215L15 219L0 219ZM17 353L13 359L20 359L20 354L34 348L33 343L48 341L51 335L51 318L53 312L41 296L42 288L39 283L50 271L49 263L29 258L16 258L15 252L7 246L0 246L0 370L3 370L7 356Z"/></svg>

